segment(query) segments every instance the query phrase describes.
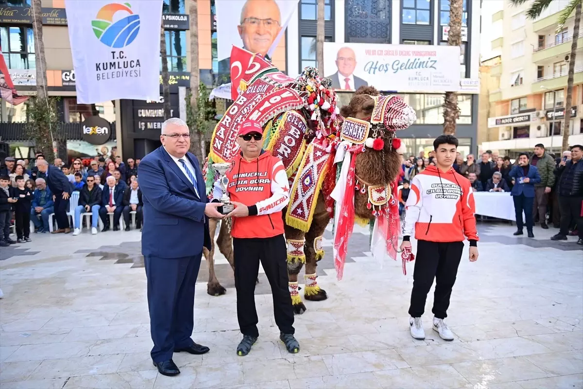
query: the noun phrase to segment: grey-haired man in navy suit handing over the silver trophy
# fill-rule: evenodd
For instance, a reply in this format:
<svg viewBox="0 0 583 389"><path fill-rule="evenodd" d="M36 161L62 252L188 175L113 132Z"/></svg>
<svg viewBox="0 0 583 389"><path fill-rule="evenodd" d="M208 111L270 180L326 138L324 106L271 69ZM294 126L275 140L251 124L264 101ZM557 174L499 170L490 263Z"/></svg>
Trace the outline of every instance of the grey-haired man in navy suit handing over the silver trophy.
<svg viewBox="0 0 583 389"><path fill-rule="evenodd" d="M204 354L190 338L194 328L194 289L202 247L210 250L208 218L222 218L220 202L207 201L205 180L188 152L187 124L170 118L162 124L162 146L138 166L143 200L142 254L154 347L150 355L164 376L180 370L174 352Z"/></svg>

